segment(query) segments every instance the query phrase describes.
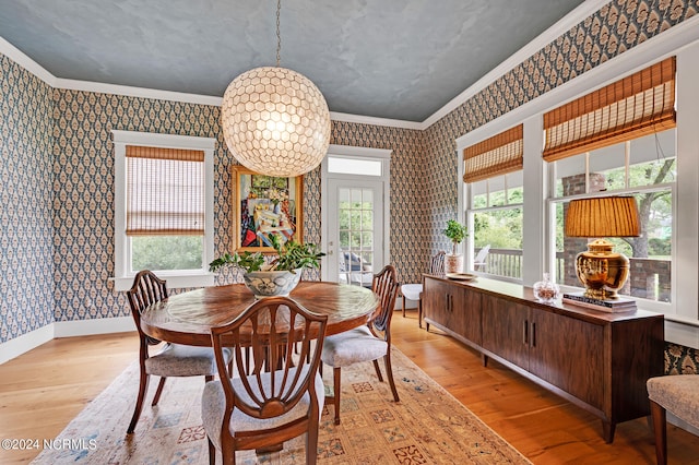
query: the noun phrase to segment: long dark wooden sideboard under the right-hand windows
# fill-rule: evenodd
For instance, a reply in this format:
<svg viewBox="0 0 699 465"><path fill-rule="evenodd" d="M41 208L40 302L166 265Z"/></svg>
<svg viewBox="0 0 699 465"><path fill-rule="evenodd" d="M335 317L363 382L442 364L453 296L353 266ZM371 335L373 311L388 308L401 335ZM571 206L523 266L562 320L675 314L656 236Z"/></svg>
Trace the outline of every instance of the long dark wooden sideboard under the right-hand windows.
<svg viewBox="0 0 699 465"><path fill-rule="evenodd" d="M521 375L616 424L650 414L645 381L664 371L664 319L538 302L532 288L478 277L423 276L423 313L435 325Z"/></svg>

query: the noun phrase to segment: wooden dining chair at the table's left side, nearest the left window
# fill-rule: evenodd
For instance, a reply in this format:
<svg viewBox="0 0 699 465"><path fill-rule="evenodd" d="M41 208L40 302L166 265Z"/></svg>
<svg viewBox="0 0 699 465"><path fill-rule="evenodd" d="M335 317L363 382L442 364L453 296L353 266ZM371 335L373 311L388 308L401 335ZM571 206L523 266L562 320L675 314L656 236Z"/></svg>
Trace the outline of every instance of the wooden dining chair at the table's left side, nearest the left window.
<svg viewBox="0 0 699 465"><path fill-rule="evenodd" d="M143 401L149 390L151 375L161 377L153 402L151 405L157 405L165 386L165 380L168 377L204 377L205 381L213 380L216 373L214 361L214 353L211 347L193 347L180 344L166 343L156 354L150 354L150 347L161 344L151 336L147 336L141 330L141 313L150 306L167 298L167 284L164 279L158 278L155 273L143 270L140 271L134 279L131 289L127 291L129 306L131 307L131 315L139 332L139 394L133 409L131 422L127 429L127 433L131 434L135 429L135 425L141 417L143 409ZM227 350L225 359L230 358L230 350ZM226 361L227 362L227 361Z"/></svg>

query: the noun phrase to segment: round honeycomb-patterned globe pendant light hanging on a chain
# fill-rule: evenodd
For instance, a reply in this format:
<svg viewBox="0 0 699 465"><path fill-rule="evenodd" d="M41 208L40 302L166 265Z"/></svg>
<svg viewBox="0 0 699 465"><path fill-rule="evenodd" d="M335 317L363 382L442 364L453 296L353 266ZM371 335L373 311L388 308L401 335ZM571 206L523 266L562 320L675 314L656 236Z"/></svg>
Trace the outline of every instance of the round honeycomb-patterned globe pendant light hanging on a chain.
<svg viewBox="0 0 699 465"><path fill-rule="evenodd" d="M221 105L228 150L262 175L295 177L316 168L330 144L330 110L305 75L280 67L282 36L276 3L276 67L256 68L234 79Z"/></svg>

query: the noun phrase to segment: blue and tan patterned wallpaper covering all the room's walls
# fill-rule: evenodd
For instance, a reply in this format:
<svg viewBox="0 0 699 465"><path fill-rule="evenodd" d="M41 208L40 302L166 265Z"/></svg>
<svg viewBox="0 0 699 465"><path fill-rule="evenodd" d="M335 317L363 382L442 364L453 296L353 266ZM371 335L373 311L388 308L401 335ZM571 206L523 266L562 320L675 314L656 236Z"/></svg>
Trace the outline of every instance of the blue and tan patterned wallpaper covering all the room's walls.
<svg viewBox="0 0 699 465"><path fill-rule="evenodd" d="M333 122L334 144L393 151L390 243L399 278L418 279L429 255L449 247L440 230L457 214L457 138L695 15L698 3L612 1L425 131ZM114 274L111 129L217 139L215 248L227 250L235 159L225 150L218 108L51 91L0 60L0 343L54 320L128 314L107 281ZM305 178L308 241L320 241L319 192L315 170ZM236 276L221 278L230 279Z"/></svg>

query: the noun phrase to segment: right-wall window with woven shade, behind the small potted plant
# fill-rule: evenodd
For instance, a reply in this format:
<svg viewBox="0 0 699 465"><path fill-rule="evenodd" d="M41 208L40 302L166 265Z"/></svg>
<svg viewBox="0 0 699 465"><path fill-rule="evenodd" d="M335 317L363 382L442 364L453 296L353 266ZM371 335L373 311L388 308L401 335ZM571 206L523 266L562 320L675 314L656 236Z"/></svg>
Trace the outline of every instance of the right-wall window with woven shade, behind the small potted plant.
<svg viewBox="0 0 699 465"><path fill-rule="evenodd" d="M464 148L469 269L522 278L523 126Z"/></svg>

